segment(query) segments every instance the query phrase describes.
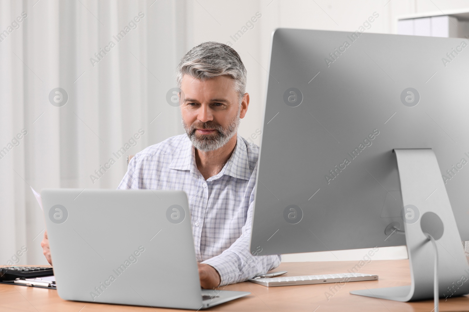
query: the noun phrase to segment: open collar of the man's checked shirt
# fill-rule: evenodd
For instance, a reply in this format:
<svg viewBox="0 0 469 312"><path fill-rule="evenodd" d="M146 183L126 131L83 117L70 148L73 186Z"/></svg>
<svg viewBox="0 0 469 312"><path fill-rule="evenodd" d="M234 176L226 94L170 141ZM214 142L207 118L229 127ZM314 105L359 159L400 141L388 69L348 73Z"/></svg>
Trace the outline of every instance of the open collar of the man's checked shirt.
<svg viewBox="0 0 469 312"><path fill-rule="evenodd" d="M189 170L192 174L198 172L195 149L187 135L184 136L184 140L181 145L181 152L174 153L173 160L171 161L169 168ZM239 135L237 135L236 138L234 151L225 166L223 166L218 174L208 178L207 181L216 180L224 174L243 180L249 180L251 177L252 169L249 167L248 151L246 149L246 144Z"/></svg>

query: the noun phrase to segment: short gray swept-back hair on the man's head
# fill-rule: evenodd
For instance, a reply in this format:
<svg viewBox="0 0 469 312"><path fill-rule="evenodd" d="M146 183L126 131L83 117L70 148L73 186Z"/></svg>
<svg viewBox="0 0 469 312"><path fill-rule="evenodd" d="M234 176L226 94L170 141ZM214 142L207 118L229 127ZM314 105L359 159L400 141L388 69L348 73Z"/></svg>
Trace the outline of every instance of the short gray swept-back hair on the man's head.
<svg viewBox="0 0 469 312"><path fill-rule="evenodd" d="M246 92L246 68L238 52L226 44L214 41L203 42L182 57L176 69L176 82L180 91L184 74L202 81L229 75L234 79L240 102Z"/></svg>

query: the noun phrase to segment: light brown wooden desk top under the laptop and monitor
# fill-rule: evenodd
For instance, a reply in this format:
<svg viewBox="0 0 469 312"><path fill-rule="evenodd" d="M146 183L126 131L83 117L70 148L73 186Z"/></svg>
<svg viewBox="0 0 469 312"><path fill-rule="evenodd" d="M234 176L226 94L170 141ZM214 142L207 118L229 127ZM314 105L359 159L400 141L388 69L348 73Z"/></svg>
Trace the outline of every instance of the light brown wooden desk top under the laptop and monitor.
<svg viewBox="0 0 469 312"><path fill-rule="evenodd" d="M275 270L288 271L287 276L346 273L358 261L333 262L284 262ZM397 302L350 295L350 290L392 287L410 283L408 260L373 260L363 266L359 273L379 275L379 281L349 282L335 291L329 300L325 292L335 284L283 286L267 288L244 282L225 287L226 290L250 291L251 295L214 306L207 311L277 312L277 311L425 311L433 309L433 301L413 303ZM433 274L429 272L429 274ZM181 294L184 296L184 294ZM56 290L0 284L0 311L35 312L92 312L92 311L188 311L158 309L126 305L106 305L62 300ZM440 311L469 311L469 297L454 297L445 302L440 299Z"/></svg>

